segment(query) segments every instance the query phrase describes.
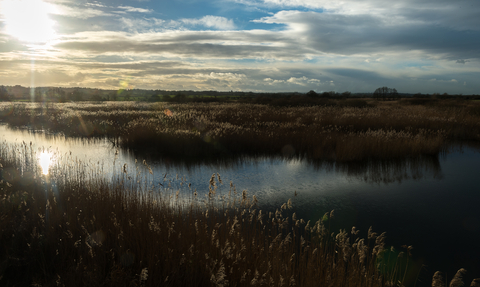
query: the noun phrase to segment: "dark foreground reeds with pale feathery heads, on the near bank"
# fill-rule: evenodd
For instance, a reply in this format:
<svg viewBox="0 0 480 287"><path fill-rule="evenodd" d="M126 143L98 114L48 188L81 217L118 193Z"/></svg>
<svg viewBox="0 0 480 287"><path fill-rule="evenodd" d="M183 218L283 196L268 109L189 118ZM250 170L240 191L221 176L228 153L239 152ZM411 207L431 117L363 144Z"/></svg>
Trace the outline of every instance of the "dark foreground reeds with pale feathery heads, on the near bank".
<svg viewBox="0 0 480 287"><path fill-rule="evenodd" d="M185 184L189 200L181 200L180 191L151 184L146 162L110 180L74 159L45 175L39 152L0 144L2 286L404 286L411 279L411 246L387 248L385 234L371 229L365 239L355 227L332 233L333 211L305 222L289 200L265 213L232 183L228 194L216 194L218 174L204 196ZM433 286L445 286L435 276Z"/></svg>

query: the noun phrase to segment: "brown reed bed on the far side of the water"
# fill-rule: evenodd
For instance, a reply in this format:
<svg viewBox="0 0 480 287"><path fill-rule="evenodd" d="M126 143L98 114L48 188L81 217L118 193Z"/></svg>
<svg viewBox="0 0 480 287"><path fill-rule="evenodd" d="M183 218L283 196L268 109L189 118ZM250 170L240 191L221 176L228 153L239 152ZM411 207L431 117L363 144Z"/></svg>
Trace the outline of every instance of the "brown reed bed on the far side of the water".
<svg viewBox="0 0 480 287"><path fill-rule="evenodd" d="M109 137L169 156L306 155L339 162L437 155L480 142L480 104L408 101L278 107L248 103L0 103L0 121Z"/></svg>

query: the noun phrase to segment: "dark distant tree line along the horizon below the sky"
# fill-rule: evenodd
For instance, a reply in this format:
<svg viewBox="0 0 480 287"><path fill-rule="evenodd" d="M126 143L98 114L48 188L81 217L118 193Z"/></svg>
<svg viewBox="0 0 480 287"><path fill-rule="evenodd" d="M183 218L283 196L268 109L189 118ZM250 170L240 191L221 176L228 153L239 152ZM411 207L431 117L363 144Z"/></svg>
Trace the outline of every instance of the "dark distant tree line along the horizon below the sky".
<svg viewBox="0 0 480 287"><path fill-rule="evenodd" d="M167 91L120 89L102 90L92 88L64 88L64 87L37 87L0 86L0 101L25 100L35 102L77 102L77 101L144 101L144 102L249 102L276 105L315 105L325 104L326 100L344 100L358 98L374 98L377 100L407 99L480 99L478 95L449 95L444 94L405 94L395 88L380 87L371 93L342 93L336 91L307 93L257 93L243 91ZM420 100L417 100L420 101Z"/></svg>

